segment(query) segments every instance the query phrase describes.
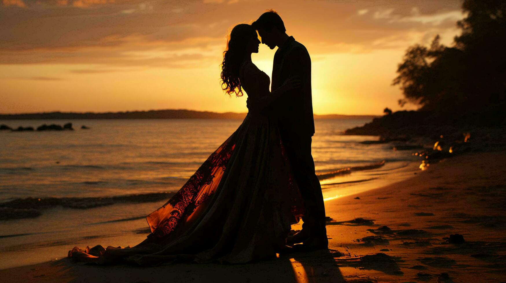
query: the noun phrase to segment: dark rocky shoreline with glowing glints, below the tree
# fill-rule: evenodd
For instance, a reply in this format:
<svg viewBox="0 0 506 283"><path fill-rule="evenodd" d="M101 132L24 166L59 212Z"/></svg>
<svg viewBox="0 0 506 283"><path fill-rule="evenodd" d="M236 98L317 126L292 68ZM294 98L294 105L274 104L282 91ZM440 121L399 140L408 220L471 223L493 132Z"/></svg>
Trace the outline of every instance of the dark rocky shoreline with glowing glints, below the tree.
<svg viewBox="0 0 506 283"><path fill-rule="evenodd" d="M344 132L345 135L376 135L362 144L390 144L393 150L412 151L420 169L431 162L468 152L506 149L506 130L498 123L479 124L447 120L427 111L397 111Z"/></svg>

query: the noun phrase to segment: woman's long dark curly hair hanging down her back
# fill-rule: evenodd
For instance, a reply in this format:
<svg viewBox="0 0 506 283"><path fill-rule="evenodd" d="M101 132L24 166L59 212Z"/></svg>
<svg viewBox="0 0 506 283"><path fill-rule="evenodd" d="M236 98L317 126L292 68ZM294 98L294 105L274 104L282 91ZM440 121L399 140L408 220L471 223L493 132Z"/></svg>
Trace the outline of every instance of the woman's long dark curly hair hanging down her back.
<svg viewBox="0 0 506 283"><path fill-rule="evenodd" d="M242 97L242 87L239 81L239 69L244 61L246 53L246 43L257 34L256 30L248 24L238 24L230 32L227 41L227 49L223 52L223 62L221 64L221 83L222 89L229 96L235 93L236 97Z"/></svg>

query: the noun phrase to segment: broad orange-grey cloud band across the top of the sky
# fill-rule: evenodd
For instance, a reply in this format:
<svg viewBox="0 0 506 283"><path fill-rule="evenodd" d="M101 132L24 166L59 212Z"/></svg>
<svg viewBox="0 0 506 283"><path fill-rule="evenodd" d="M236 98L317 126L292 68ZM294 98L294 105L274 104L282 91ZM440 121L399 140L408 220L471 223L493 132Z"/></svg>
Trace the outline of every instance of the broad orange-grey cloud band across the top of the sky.
<svg viewBox="0 0 506 283"><path fill-rule="evenodd" d="M9 3L23 3L19 5ZM0 64L192 68L217 64L226 33L276 8L311 54L406 48L455 29L459 0L3 0ZM203 5L205 4L205 5ZM301 11L305 11L301 13ZM36 24L35 24L36 23Z"/></svg>

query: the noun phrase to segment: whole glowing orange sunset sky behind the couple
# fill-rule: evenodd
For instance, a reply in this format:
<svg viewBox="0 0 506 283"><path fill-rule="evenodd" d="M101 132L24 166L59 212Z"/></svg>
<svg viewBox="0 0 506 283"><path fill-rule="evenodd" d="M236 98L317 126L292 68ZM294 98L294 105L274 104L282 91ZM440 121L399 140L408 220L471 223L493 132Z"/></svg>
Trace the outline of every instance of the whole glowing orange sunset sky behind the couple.
<svg viewBox="0 0 506 283"><path fill-rule="evenodd" d="M409 45L449 44L459 0L0 0L0 113L246 112L221 90L228 31L275 9L312 59L315 114L399 110ZM275 50L253 56L271 74Z"/></svg>

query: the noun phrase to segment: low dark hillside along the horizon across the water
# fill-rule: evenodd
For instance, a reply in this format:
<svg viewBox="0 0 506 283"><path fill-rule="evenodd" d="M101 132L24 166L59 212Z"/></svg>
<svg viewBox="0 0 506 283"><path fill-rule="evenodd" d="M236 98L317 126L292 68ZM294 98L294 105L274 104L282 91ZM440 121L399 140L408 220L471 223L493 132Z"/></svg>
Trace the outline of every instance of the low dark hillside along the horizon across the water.
<svg viewBox="0 0 506 283"><path fill-rule="evenodd" d="M246 113L208 112L185 109L166 109L126 112L44 112L0 114L0 120L56 120L56 119L244 119ZM315 119L373 119L370 115L314 115Z"/></svg>

